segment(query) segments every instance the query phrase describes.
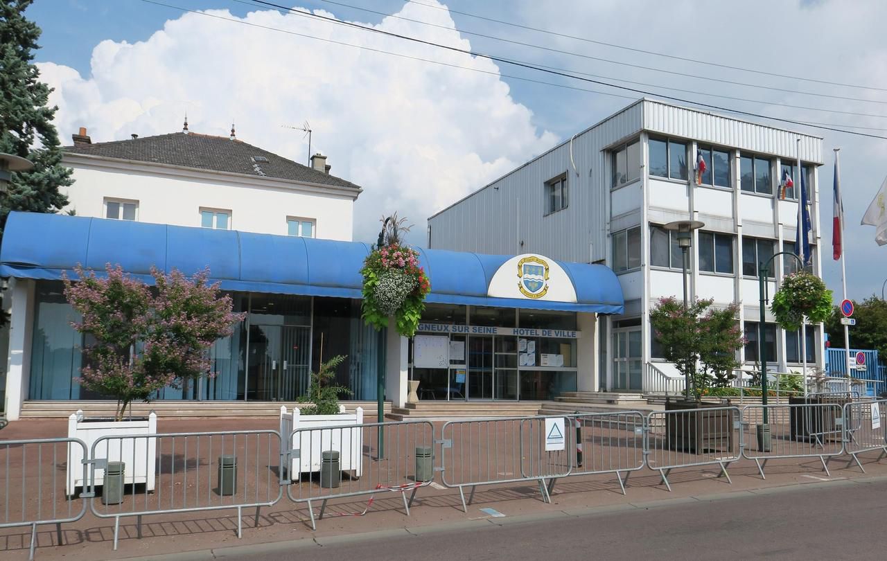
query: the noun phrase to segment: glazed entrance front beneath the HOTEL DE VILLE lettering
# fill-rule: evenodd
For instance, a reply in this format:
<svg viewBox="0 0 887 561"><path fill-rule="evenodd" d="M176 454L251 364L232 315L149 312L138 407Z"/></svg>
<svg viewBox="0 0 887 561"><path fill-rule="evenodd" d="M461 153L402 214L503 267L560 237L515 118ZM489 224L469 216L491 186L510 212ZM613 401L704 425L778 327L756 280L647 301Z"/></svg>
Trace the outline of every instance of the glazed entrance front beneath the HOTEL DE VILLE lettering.
<svg viewBox="0 0 887 561"><path fill-rule="evenodd" d="M421 323L428 329L420 324L409 356L420 400L551 400L577 390L577 339L546 333L576 331L575 312L428 304ZM444 349L433 365L416 356L427 339Z"/></svg>

